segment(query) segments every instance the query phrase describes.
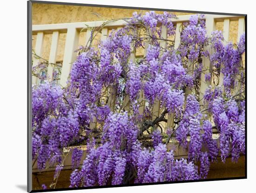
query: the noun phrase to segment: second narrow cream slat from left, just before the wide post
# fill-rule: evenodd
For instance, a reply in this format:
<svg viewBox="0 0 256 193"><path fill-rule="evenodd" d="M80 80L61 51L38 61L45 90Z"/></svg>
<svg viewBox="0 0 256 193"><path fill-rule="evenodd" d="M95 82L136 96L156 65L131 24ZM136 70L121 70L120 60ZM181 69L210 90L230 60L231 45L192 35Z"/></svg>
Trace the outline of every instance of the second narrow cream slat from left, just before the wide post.
<svg viewBox="0 0 256 193"><path fill-rule="evenodd" d="M56 63L59 37L60 37L60 32L58 31L53 32L52 45L51 45L50 56L49 56L49 65L47 69L47 75L48 77L50 77L50 81L53 80L53 64Z"/></svg>

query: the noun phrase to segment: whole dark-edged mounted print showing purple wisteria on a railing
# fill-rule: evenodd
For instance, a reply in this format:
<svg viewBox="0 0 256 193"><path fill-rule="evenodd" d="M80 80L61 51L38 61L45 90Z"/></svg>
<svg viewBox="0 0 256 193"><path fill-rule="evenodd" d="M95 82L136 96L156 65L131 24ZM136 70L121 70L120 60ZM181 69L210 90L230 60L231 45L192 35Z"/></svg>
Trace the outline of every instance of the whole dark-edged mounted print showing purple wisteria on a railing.
<svg viewBox="0 0 256 193"><path fill-rule="evenodd" d="M28 192L247 178L246 14L27 8Z"/></svg>

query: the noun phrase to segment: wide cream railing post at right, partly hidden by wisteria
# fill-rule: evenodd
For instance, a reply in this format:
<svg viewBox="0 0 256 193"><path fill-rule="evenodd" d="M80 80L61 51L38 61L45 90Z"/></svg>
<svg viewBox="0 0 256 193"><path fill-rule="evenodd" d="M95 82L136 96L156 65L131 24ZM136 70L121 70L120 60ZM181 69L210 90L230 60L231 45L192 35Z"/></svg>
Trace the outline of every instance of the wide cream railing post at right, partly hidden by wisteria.
<svg viewBox="0 0 256 193"><path fill-rule="evenodd" d="M207 15L205 17L205 19L206 19L205 20L205 27L206 27L206 30L207 30L207 35L209 36L212 31L215 31L216 22L214 20L214 17L211 16L211 15ZM212 51L210 49L210 45L206 46L205 50L208 50L209 54L212 54ZM211 73L212 72L212 64L210 63L209 58L203 57L202 62L203 62L202 63L203 64L202 70L204 71L204 73L201 73L201 85L200 85L200 95L199 95L200 99L202 99L202 97L205 93L205 90L208 88L209 84L211 84L211 79L212 79L212 75L211 75L209 83L206 83L205 82L205 77L204 77L204 75L206 73ZM200 100L200 104L203 104L203 100Z"/></svg>

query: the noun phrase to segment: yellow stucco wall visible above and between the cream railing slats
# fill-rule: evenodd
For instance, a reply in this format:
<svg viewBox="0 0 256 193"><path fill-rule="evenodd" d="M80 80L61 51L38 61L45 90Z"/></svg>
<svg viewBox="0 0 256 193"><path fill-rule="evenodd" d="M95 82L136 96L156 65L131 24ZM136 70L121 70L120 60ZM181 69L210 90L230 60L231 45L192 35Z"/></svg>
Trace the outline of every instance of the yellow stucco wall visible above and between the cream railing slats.
<svg viewBox="0 0 256 193"><path fill-rule="evenodd" d="M168 7L171 8L171 7ZM56 24L56 23L71 23L85 22L96 20L108 20L116 18L131 17L132 13L145 13L146 10L121 9L121 8L105 8L105 7L90 7L90 6L70 6L70 5L53 5L53 4L32 4L32 24ZM156 12L162 13L162 12ZM191 13L173 12L175 15L185 15ZM223 30L223 22L216 24L218 30ZM230 22L229 41L236 42L238 21ZM60 35L57 61L63 58L65 47L66 34ZM42 58L49 58L52 35L45 35ZM36 35L33 35L33 48L35 47ZM85 43L85 32L80 34L79 45Z"/></svg>

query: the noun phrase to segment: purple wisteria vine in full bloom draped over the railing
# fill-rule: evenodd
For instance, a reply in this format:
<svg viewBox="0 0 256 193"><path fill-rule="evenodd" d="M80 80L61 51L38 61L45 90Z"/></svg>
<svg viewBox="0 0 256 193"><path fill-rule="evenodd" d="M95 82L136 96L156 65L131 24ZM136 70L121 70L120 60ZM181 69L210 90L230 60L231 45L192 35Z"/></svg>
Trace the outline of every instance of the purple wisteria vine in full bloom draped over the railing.
<svg viewBox="0 0 256 193"><path fill-rule="evenodd" d="M194 15L182 25L175 49L168 39L175 35L175 17L134 13L97 48L79 53L66 87L47 77L33 86L33 160L40 170L56 167L50 188L56 186L68 153L73 169L69 187L204 179L217 157L238 161L245 154L245 35L236 45L225 44L221 31L208 36L203 15ZM167 39L162 39L159 24L167 28ZM146 45L144 58L129 58ZM222 85L210 83L203 57L223 74ZM209 87L200 98L196 88L202 74ZM108 97L113 90L114 108ZM188 149L188 157L176 158L178 147Z"/></svg>

